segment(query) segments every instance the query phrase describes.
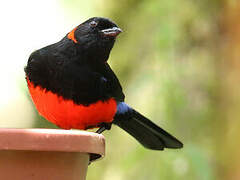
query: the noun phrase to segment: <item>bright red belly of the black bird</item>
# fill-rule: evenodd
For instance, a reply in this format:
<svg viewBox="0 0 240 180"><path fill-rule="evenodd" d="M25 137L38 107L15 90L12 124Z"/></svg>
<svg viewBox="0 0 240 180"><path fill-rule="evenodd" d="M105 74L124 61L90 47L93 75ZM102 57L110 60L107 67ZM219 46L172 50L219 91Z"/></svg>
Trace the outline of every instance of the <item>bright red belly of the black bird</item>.
<svg viewBox="0 0 240 180"><path fill-rule="evenodd" d="M117 103L113 98L89 106L77 105L51 91L39 86L34 87L28 79L27 82L39 114L64 129L86 129L102 122L110 123L117 111Z"/></svg>

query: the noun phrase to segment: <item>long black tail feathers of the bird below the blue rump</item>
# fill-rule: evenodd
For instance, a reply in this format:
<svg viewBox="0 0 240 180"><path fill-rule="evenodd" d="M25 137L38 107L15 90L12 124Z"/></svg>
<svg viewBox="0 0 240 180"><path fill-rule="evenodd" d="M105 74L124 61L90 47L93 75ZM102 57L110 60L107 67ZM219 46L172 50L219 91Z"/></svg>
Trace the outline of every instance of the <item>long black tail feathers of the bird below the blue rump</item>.
<svg viewBox="0 0 240 180"><path fill-rule="evenodd" d="M128 113L117 114L113 124L124 129L149 149L163 150L164 148L183 147L179 140L133 109Z"/></svg>

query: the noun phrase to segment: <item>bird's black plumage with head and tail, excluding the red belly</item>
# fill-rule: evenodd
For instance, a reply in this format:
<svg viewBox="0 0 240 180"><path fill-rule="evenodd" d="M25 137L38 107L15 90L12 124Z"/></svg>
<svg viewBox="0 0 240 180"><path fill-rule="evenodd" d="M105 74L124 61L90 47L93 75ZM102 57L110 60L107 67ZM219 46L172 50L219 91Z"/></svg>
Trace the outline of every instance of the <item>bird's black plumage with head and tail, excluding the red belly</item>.
<svg viewBox="0 0 240 180"><path fill-rule="evenodd" d="M126 105L118 78L107 63L120 28L109 19L91 18L59 42L33 52L25 68L35 85L75 104L88 106L114 98L118 103L113 124L146 148L162 150L183 145L172 135ZM101 132L110 128L104 124Z"/></svg>

